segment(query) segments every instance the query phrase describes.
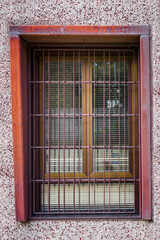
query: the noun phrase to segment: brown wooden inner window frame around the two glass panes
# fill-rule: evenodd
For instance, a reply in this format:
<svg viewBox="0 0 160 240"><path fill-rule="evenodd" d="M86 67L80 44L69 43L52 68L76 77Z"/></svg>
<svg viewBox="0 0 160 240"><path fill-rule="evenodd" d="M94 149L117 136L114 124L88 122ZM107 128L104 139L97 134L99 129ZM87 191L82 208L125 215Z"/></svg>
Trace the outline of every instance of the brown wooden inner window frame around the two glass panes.
<svg viewBox="0 0 160 240"><path fill-rule="evenodd" d="M108 57L106 57L106 61L107 61L107 58ZM45 60L47 60L48 59L48 57L45 57ZM50 61L51 60L54 60L54 57L52 57L51 59L50 59ZM114 60L117 60L118 61L118 57L116 57L116 58L114 58L114 59L110 59L110 61L111 62L114 62ZM133 59L131 58L131 57L129 57L128 59L127 58L125 58L126 59L126 62L128 62L128 64L129 64L129 75L130 75L130 77L132 78L132 76L133 76ZM55 60L56 60L56 58L55 58ZM108 59L109 60L109 59ZM63 58L61 58L60 59L60 62L62 62L63 61ZM66 62L70 62L70 61L72 61L72 59L71 58L67 58L66 59ZM78 59L77 59L77 61L78 61ZM83 112L83 114L92 114L92 84L93 83L89 83L89 77L90 77L90 79L92 79L92 63L94 62L94 59L93 59L93 57L92 58L90 58L90 67L89 67L89 73L88 73L88 59L87 59L87 57L82 57L81 58L81 64L82 64L82 79L84 79L83 81L87 81L88 83L87 84L84 84L84 83L82 83L82 112ZM98 60L96 60L96 62L98 62L98 61L103 61L103 59L102 58L99 58L98 57ZM86 63L87 62L87 63ZM39 60L39 65L40 65L40 81L42 81L42 79L43 79L43 74L42 74L42 57L40 57L40 60ZM137 76L137 61L136 61L136 74L135 74L136 76ZM93 80L92 80L93 81ZM136 81L138 81L138 79L136 79ZM90 85L90 94L89 94L89 85ZM86 91L86 89L88 88L88 91ZM128 100L128 103L129 103L129 111L131 111L130 113L132 113L132 111L134 111L133 110L133 108L134 108L134 100L132 99L132 98L134 98L134 91L132 90L132 86L131 85L129 85L128 86L128 88L129 88L129 90L128 91L130 91L130 94L129 94L129 96L128 96L128 98L129 98L129 100ZM41 89L40 89L40 95L43 95L43 88L42 88L42 86L41 86ZM136 91L136 94L137 94L137 91ZM89 95L90 95L90 113L89 113L89 109L88 109L88 104L89 104ZM40 97L40 99L41 99L41 97ZM87 102L87 104L86 104L86 102ZM40 105L41 106L40 106ZM38 103L37 104L37 108L40 106L40 108L42 108L42 101L40 101L40 103ZM38 111L38 110L37 110ZM136 104L136 109L135 109L135 111L137 112L137 104ZM89 119L88 119L89 118ZM83 132L83 146L88 146L89 145L89 132L92 132L93 131L93 124L92 124L92 117L88 117L88 116L83 116L82 117L82 122L90 122L90 124L82 124L82 126L83 126L83 130L82 130L82 132ZM136 123L136 125L137 125L138 123ZM40 129L40 136L42 136L43 135L43 127L42 127L42 122L41 122L41 124L40 124L40 126L39 126L39 129ZM90 131L88 131L88 129L87 129L87 127L90 125ZM130 123L129 124L129 128L130 128L130 138L129 138L129 145L132 145L132 142L133 142L133 138L132 138L132 124ZM37 129L37 131L38 131L38 129ZM133 135L134 135L134 132L133 132ZM136 135L138 135L138 134L136 134ZM137 138L138 136L136 136L136 138ZM90 145L92 145L93 143L92 143L92 138L93 138L93 135L90 135ZM41 141L41 144L40 145L43 145L42 144L42 137L40 138L40 141ZM90 154L88 153L90 151ZM90 159L92 159L92 155L93 155L93 153L92 153L92 150L89 150L89 149L83 149L83 172L81 172L80 173L80 178L88 178L88 161L89 161L89 159L88 159L88 156L90 155ZM43 155L42 153L41 153L41 155ZM130 164L129 164L129 171L122 171L122 172L106 172L105 173L105 177L106 178L108 178L109 176L110 176L110 178L116 178L116 177L121 177L121 178L123 178L124 176L125 177L133 177L134 176L134 171L133 171L133 169L134 169L134 157L133 157L133 151L132 151L132 149L130 149L129 150L129 159L130 159ZM41 171L41 176L43 175L43 161L42 161L42 158L41 158L41 169L40 169L40 171ZM89 166L89 169L90 169L90 178L94 178L94 172L93 172L93 168L92 168L92 165L93 165L93 162L92 161L90 161L90 166ZM103 178L103 175L104 175L104 172L95 172L95 178ZM55 178L55 179L57 179L58 178L58 172L57 173L50 173L50 176L49 176L50 178ZM73 173L65 173L65 177L66 177L66 179L67 178L70 178L70 179L73 179ZM46 179L48 179L48 173L45 173L45 178ZM63 173L60 173L60 178L62 179L62 178L64 178L64 174ZM79 173L77 172L77 173L75 173L75 178L79 178Z"/></svg>

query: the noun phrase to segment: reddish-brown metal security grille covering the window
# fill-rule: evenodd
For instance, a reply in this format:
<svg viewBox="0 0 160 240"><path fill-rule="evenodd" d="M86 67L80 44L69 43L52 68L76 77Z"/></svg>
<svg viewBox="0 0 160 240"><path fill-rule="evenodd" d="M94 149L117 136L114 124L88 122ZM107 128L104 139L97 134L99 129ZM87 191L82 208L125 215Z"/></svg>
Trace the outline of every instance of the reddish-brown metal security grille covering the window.
<svg viewBox="0 0 160 240"><path fill-rule="evenodd" d="M36 48L30 57L30 216L138 214L137 50Z"/></svg>

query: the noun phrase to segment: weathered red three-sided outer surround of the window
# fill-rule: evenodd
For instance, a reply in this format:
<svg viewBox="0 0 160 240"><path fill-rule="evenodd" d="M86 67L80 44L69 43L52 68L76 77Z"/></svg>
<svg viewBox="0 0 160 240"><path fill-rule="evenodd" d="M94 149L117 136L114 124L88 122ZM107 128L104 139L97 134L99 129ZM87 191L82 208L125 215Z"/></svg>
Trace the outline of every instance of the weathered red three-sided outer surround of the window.
<svg viewBox="0 0 160 240"><path fill-rule="evenodd" d="M28 71L27 42L23 36L138 36L141 81L141 200L138 218L151 219L151 123L150 123L150 28L149 26L11 26L10 61L13 154L17 221L28 219ZM82 40L81 40L82 41ZM82 42L81 42L82 43Z"/></svg>

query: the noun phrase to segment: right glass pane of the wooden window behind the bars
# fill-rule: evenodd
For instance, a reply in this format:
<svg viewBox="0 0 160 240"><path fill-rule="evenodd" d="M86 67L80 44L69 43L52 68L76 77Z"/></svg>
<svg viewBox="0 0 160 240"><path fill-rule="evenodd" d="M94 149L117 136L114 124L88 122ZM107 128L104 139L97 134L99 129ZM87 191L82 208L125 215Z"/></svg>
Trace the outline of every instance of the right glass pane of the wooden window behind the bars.
<svg viewBox="0 0 160 240"><path fill-rule="evenodd" d="M120 75L119 75L120 66ZM93 138L96 146L128 146L128 117L113 117L113 114L128 113L128 85L112 83L128 80L128 63L95 62L92 64L92 119ZM106 83L109 81L111 83ZM98 82L98 83L97 83ZM104 89L105 87L105 89ZM97 116L101 114L102 116ZM104 114L110 114L110 117ZM129 149L94 149L93 168L96 172L129 171Z"/></svg>

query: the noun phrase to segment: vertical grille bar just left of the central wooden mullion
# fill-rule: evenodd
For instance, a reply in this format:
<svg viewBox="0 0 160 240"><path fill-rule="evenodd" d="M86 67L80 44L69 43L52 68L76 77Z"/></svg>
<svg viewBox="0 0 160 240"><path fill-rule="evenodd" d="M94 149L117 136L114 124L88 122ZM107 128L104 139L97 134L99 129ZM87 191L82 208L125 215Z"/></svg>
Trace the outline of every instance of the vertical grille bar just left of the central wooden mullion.
<svg viewBox="0 0 160 240"><path fill-rule="evenodd" d="M80 94L81 94L81 63L80 63L80 51L78 52L78 80L79 80L79 98L78 98L78 108L79 108L79 116L78 116L78 120L79 120L79 153L78 153L78 156L79 156L79 212L80 212L80 145L81 145L81 118L80 118L80 115L81 115L81 105L80 105ZM83 156L83 154L82 154Z"/></svg>

